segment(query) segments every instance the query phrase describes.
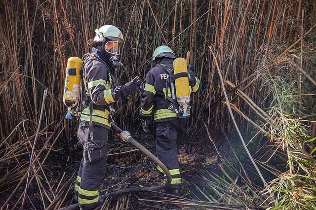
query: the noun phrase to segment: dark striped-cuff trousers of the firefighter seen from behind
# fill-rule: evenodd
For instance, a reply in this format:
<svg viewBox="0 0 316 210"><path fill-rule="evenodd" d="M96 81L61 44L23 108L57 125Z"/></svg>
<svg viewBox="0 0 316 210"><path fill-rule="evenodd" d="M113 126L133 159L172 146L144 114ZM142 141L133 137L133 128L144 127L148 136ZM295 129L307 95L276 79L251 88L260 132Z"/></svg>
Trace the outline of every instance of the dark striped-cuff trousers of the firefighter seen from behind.
<svg viewBox="0 0 316 210"><path fill-rule="evenodd" d="M171 121L156 122L156 152L161 162L168 168L172 181L169 189L179 189L182 183L178 146L186 138L188 118L175 118ZM160 167L158 170L163 173ZM166 175L164 175L166 179Z"/></svg>

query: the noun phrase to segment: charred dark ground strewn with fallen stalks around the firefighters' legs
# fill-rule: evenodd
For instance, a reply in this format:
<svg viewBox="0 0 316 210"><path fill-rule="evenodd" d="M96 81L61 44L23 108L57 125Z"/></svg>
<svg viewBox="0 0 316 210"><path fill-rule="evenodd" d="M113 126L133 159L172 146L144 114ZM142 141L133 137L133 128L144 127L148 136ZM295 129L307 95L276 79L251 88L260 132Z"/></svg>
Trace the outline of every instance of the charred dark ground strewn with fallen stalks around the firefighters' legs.
<svg viewBox="0 0 316 210"><path fill-rule="evenodd" d="M153 154L156 153L156 141L152 135L132 135L135 140L148 148ZM66 158L67 156L61 157L57 152L55 153L55 157L51 155L52 157L45 165L45 169L49 171L50 174L48 177L48 179L51 180L50 188L54 189L55 194L60 190L64 190L64 192L60 193L63 195L62 198L58 200L58 202L62 202L61 207L74 204L73 187L82 157L82 146L77 141L73 141L74 142L70 142L71 144L74 143L73 147L70 148L73 154L71 158ZM155 192L130 193L108 197L102 209L204 209L203 206L198 206L195 203L195 201L209 201L207 196L203 193L203 191L205 191L203 189L203 182L200 178L197 178L197 175L203 175L205 171L215 171L218 157L214 147L205 136L196 135L195 142L192 144L193 146L188 146L189 142L192 141L184 141L184 143L180 145L178 152L182 175L181 197L186 200L172 198ZM188 148L189 152L187 152ZM100 186L101 195L128 187L146 187L164 183L163 177L156 170L157 166L153 161L140 151L131 147L129 143L119 140L115 135L112 135L112 140L108 142L107 164L107 173ZM11 186L11 189L14 189L14 187L15 186ZM18 200L18 197L24 190L22 188L18 190L11 201ZM45 185L44 188L46 192L50 193L51 190L49 187ZM56 188L59 189L59 191ZM8 187L8 189L10 189L10 187ZM65 191L66 189L67 191ZM1 193L2 199L0 199L0 204L3 204L11 193L10 190ZM30 201L32 201L32 203ZM50 204L51 202L45 199L45 208ZM13 206L13 203L9 204L8 209L13 208ZM18 206L21 205L17 205L17 207ZM56 205L54 204L48 209L54 209L54 206ZM44 209L36 181L33 181L28 189L28 198L25 200L24 207L24 209Z"/></svg>

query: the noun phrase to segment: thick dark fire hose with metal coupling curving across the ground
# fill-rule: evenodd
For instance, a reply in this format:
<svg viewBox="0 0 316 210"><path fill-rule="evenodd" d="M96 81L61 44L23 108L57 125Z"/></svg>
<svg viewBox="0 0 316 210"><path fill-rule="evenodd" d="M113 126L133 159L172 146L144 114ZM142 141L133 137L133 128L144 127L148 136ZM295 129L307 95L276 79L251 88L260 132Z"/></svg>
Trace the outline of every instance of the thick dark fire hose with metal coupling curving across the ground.
<svg viewBox="0 0 316 210"><path fill-rule="evenodd" d="M141 152L143 152L145 155L147 155L152 161L154 161L164 172L164 174L167 176L167 180L165 183L157 186L151 186L151 187L131 187L131 188L125 188L117 191L113 191L110 193L106 193L100 196L101 199L105 200L105 198L109 196L119 195L123 193L131 193L131 192L144 192L144 191L158 191L160 189L166 188L171 183L171 174L167 167L150 151L148 151L143 145L138 143L136 140L133 139L131 134L128 131L122 131L116 124L112 123L111 128L119 135L119 138L123 141L130 142L133 146L138 148ZM78 204L74 204L68 207L64 207L60 210L76 210L79 208Z"/></svg>

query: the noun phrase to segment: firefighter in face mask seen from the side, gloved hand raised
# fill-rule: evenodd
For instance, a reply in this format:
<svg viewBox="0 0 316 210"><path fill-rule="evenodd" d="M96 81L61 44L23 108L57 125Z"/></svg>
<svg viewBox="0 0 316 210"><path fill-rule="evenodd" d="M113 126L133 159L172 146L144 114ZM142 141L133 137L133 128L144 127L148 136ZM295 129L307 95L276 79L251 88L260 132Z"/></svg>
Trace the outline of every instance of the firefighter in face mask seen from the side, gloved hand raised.
<svg viewBox="0 0 316 210"><path fill-rule="evenodd" d="M92 53L83 60L83 86L87 97L81 111L78 138L83 144L83 158L75 184L75 200L80 209L94 209L103 201L99 199L99 186L106 174L107 142L112 118L113 103L135 93L139 77L122 86L116 86L115 69L121 63L123 35L112 25L95 30L94 39L88 40Z"/></svg>

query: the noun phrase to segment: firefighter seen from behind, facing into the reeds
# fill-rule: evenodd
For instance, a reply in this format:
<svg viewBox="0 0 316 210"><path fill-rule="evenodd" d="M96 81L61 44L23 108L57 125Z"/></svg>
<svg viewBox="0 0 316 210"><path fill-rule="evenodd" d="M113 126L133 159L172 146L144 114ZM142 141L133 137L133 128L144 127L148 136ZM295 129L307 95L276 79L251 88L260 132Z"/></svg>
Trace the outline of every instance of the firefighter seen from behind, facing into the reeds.
<svg viewBox="0 0 316 210"><path fill-rule="evenodd" d="M154 113L157 156L172 176L169 188L162 192L179 196L182 180L178 163L178 146L186 136L190 111L186 113L188 117L180 116L175 111L175 104L167 100L174 91L172 90L174 85L170 82L166 83L166 80L170 77L170 72L172 74L175 58L175 54L168 46L159 46L154 51L153 61L156 66L147 73L141 87L140 118L143 120L143 130L151 133L153 132L151 119ZM188 77L190 92L197 92L200 89L199 79L190 69L188 69ZM158 167L158 170L163 173L161 168Z"/></svg>

